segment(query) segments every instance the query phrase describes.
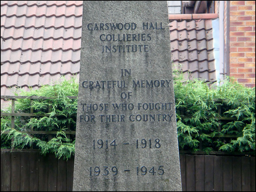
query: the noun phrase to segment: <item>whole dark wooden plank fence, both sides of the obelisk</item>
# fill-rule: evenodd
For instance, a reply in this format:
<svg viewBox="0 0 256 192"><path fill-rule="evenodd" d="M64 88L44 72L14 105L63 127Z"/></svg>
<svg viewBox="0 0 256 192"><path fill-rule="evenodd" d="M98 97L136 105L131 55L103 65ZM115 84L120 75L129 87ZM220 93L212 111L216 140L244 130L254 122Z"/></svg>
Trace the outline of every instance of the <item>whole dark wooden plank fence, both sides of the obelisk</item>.
<svg viewBox="0 0 256 192"><path fill-rule="evenodd" d="M183 191L255 191L255 157L180 154ZM1 149L1 191L72 191L74 158Z"/></svg>

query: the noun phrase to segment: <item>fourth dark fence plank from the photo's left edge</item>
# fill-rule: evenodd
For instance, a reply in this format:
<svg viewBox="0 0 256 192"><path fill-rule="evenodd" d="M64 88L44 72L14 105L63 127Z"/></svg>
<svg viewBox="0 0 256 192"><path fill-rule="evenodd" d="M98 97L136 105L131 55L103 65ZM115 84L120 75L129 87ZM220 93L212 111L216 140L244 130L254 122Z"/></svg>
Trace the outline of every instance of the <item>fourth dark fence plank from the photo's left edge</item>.
<svg viewBox="0 0 256 192"><path fill-rule="evenodd" d="M29 191L38 191L39 181L39 153L29 152Z"/></svg>

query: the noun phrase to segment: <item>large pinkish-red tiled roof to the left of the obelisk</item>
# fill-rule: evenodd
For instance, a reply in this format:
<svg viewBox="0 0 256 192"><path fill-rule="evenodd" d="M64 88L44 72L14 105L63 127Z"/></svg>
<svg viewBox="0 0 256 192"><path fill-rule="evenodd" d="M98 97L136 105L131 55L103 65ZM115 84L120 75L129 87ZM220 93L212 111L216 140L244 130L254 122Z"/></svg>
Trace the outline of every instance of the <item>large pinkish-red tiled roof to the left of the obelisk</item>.
<svg viewBox="0 0 256 192"><path fill-rule="evenodd" d="M82 1L1 1L1 95L79 78L81 26Z"/></svg>

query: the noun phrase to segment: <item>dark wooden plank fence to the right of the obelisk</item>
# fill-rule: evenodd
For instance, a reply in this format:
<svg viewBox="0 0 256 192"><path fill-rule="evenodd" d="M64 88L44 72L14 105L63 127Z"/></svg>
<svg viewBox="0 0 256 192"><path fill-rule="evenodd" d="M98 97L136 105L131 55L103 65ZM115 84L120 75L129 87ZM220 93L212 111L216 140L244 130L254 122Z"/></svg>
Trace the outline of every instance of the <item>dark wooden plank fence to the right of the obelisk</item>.
<svg viewBox="0 0 256 192"><path fill-rule="evenodd" d="M255 191L255 157L180 154L183 191Z"/></svg>

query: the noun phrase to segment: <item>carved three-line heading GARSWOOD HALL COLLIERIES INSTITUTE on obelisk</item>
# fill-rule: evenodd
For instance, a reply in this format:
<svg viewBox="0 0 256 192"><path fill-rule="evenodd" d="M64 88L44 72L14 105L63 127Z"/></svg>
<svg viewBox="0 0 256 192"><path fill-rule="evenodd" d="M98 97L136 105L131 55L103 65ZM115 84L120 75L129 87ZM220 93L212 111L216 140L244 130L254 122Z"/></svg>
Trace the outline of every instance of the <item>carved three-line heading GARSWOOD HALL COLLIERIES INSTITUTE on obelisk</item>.
<svg viewBox="0 0 256 192"><path fill-rule="evenodd" d="M163 30L162 22L127 23L88 23L87 29L100 32L98 40L102 42L102 53L149 52L153 30ZM140 32L136 33L136 30ZM125 43L126 42L126 43Z"/></svg>

